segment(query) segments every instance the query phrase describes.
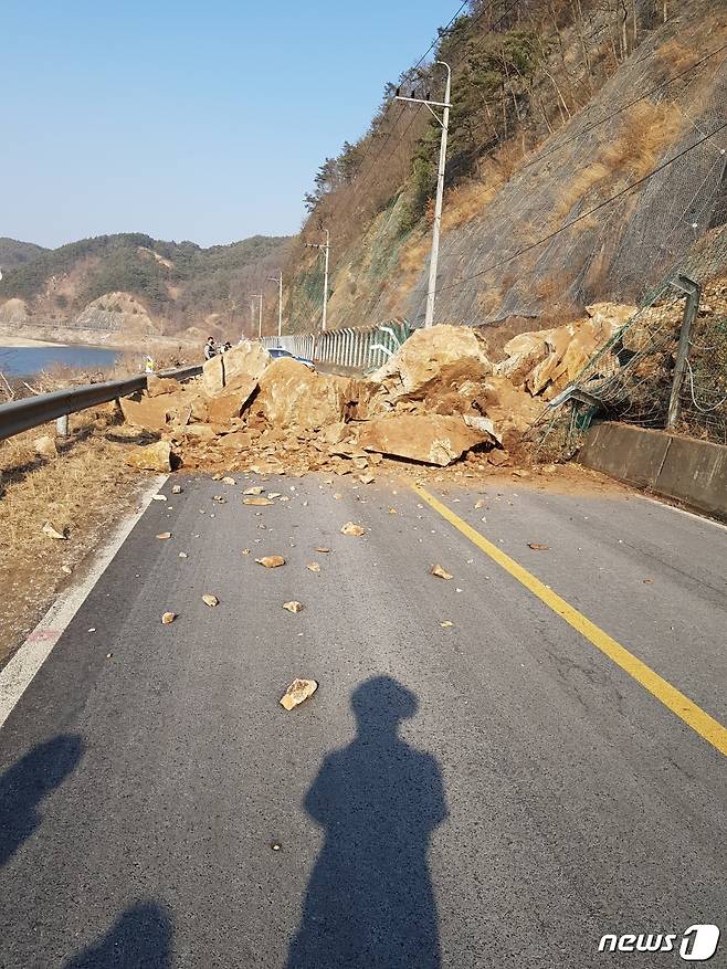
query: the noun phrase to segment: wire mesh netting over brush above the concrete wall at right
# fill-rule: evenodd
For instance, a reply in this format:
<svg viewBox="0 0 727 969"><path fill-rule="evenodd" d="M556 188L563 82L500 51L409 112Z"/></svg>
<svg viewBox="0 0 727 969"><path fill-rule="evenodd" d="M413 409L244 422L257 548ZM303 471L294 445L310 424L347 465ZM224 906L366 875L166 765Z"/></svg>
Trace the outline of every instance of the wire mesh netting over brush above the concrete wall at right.
<svg viewBox="0 0 727 969"><path fill-rule="evenodd" d="M569 456L597 415L727 444L727 227L647 295L530 436L541 455Z"/></svg>

